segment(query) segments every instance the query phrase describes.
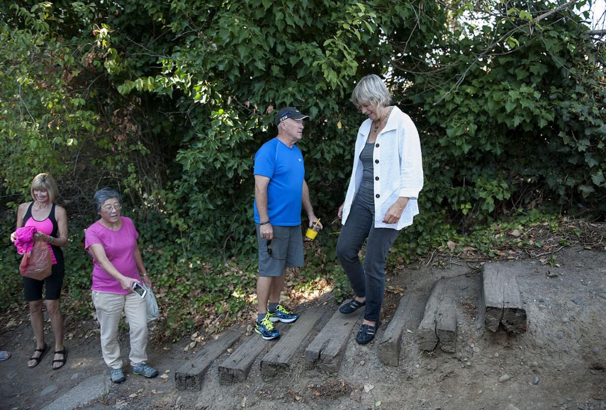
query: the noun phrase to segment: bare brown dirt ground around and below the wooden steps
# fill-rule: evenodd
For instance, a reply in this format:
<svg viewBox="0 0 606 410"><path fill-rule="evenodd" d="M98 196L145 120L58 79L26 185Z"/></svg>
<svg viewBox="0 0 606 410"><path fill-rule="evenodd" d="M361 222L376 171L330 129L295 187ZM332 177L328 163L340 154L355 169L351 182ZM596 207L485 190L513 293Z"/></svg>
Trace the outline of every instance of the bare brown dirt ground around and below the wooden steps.
<svg viewBox="0 0 606 410"><path fill-rule="evenodd" d="M362 347L350 337L337 374L308 369L298 358L290 374L264 382L259 356L244 383L219 385L215 362L202 391L177 391L174 371L192 356L183 351L190 340L182 340L149 349L150 363L161 373L170 370L167 379L130 376L122 385L110 383L109 393L85 408L501 410L511 404L519 409L606 409L606 253L567 249L557 260L560 267L541 265L536 259L500 262L519 272L516 279L528 313L528 331L518 336L484 329L478 319L478 270L462 265L405 269L388 275L387 283L396 292L402 287L404 295L415 300L397 368L378 362L376 343ZM423 354L414 333L430 287L441 277L450 278L458 288L457 349ZM387 293L379 336L398 300L398 294ZM336 308L331 299L316 305L327 314L310 339ZM50 355L35 369L25 366L32 353L27 323L3 334L2 349L13 356L0 362L4 386L0 408L40 409L82 380L103 374L106 368L93 322L90 328L88 338L66 341L68 365L60 371L50 368ZM127 339L127 333L122 334ZM122 346L126 359L127 340Z"/></svg>

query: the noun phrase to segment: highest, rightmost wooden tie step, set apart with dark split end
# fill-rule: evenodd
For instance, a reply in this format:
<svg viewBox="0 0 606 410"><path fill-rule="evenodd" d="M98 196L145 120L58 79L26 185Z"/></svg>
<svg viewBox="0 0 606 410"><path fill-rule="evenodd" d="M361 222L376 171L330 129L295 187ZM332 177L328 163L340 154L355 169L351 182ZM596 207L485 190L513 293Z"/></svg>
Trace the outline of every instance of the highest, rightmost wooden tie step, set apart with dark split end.
<svg viewBox="0 0 606 410"><path fill-rule="evenodd" d="M484 325L490 331L496 331L499 324L511 333L524 333L527 330L526 310L516 273L514 268L496 263L482 267Z"/></svg>

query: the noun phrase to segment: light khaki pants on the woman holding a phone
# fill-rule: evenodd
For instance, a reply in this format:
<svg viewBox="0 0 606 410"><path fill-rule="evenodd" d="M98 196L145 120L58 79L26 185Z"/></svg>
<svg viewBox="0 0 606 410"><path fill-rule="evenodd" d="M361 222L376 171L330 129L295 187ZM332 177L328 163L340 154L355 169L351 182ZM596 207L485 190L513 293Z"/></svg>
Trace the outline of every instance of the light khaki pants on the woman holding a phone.
<svg viewBox="0 0 606 410"><path fill-rule="evenodd" d="M122 367L118 324L122 311L130 327L130 364L147 361L147 305L136 293L101 293L93 290L93 305L101 325L101 351L103 360L112 369Z"/></svg>

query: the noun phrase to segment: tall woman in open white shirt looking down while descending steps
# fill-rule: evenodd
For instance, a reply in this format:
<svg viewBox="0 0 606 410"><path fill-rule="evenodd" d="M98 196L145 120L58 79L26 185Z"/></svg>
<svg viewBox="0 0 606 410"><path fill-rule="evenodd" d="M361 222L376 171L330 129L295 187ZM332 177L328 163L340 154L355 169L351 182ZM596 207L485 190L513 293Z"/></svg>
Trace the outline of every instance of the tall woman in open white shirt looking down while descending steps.
<svg viewBox="0 0 606 410"><path fill-rule="evenodd" d="M351 102L368 119L358 130L351 179L339 207L343 227L337 256L355 293L339 310L348 314L365 306L356 342L366 344L379 324L387 252L399 231L419 213L423 167L415 124L398 107L390 106L390 93L379 76L361 79ZM358 252L366 239L362 266Z"/></svg>

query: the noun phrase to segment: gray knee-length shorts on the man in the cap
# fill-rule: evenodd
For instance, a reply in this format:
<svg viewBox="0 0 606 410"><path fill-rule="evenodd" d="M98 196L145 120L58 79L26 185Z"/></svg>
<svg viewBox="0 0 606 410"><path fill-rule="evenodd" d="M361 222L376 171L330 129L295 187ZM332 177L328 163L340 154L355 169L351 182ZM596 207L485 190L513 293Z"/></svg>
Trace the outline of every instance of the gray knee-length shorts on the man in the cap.
<svg viewBox="0 0 606 410"><path fill-rule="evenodd" d="M267 239L261 238L259 224L257 242L259 246L259 276L282 276L284 268L303 266L303 235L301 225L275 226L271 239L271 253L267 252Z"/></svg>

